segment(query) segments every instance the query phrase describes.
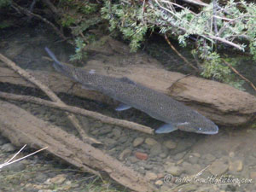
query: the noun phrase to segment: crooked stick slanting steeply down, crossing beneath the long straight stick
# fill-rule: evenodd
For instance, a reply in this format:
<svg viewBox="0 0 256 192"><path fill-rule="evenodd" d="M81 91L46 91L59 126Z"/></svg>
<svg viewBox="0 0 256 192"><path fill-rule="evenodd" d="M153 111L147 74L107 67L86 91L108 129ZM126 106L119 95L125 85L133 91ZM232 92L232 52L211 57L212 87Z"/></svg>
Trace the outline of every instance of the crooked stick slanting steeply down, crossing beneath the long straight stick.
<svg viewBox="0 0 256 192"><path fill-rule="evenodd" d="M49 90L46 85L42 84L40 81L38 81L38 79L35 79L30 73L27 73L24 69L18 67L15 62L10 61L2 54L0 54L0 60L3 61L8 67L12 68L16 73L20 74L21 77L27 79L32 84L35 84L40 90L43 90L44 93L49 96L49 98L53 102L56 102L58 105L61 106L66 106L66 104L62 102L61 99L56 96L52 90ZM67 113L67 118L70 119L77 131L79 131L79 134L82 139L84 139L84 141L87 141L89 143L100 143L96 141L96 139L87 136L84 129L79 125L79 120L73 114Z"/></svg>

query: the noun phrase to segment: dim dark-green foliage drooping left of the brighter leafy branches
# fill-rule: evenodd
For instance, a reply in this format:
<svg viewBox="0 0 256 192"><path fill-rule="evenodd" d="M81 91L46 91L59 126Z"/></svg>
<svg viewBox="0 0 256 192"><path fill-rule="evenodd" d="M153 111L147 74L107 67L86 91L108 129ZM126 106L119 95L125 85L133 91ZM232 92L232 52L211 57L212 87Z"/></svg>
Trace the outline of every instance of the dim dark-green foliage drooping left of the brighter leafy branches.
<svg viewBox="0 0 256 192"><path fill-rule="evenodd" d="M88 31L102 21L99 4L83 0L61 0L59 6L65 9L60 20L61 26L69 28L75 38L75 54L70 56L70 60L82 60L86 57L84 47L95 40L94 35Z"/></svg>

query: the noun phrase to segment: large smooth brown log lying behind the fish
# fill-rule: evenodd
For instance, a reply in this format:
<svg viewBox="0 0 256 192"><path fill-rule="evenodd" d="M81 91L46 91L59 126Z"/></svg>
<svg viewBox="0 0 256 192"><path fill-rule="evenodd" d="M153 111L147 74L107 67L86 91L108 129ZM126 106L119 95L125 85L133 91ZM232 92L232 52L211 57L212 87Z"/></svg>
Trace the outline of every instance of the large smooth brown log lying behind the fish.
<svg viewBox="0 0 256 192"><path fill-rule="evenodd" d="M148 63L147 66L111 67L102 62L89 62L88 68L95 68L101 73L116 77L128 77L154 90L172 96L191 108L212 119L218 125L239 126L255 119L256 98L247 92L236 90L227 84L200 79L194 76L185 77L182 73L168 72L165 69ZM41 82L47 84L55 92L69 92L74 96L113 104L113 100L94 90L84 90L80 84L64 77L59 73L44 71L29 71ZM177 83L173 84L177 81ZM33 87L20 79L8 68L0 67L0 82L20 84ZM168 89L170 86L172 87Z"/></svg>

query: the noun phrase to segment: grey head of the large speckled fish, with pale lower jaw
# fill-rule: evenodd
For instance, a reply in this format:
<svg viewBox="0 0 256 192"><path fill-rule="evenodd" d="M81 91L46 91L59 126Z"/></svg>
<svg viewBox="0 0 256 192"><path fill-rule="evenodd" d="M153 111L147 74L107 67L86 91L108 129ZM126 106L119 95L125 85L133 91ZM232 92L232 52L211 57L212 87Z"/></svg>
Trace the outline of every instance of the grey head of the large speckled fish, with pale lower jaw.
<svg viewBox="0 0 256 192"><path fill-rule="evenodd" d="M185 122L177 123L176 127L180 131L189 131L207 135L218 133L218 126L200 113L196 113L195 117L189 118Z"/></svg>

